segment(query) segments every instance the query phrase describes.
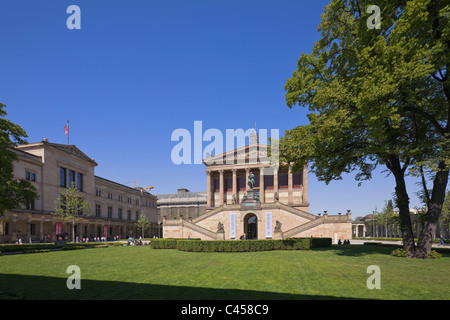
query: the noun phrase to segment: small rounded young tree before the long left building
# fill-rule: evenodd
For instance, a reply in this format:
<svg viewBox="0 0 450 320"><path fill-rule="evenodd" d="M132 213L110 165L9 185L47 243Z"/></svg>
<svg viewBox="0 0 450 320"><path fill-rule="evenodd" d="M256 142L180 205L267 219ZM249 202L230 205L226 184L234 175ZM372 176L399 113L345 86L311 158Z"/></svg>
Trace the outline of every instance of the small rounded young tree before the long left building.
<svg viewBox="0 0 450 320"><path fill-rule="evenodd" d="M85 200L75 183L63 192L54 202L53 215L61 217L72 224L72 242L75 242L75 225L83 217L89 216L91 204Z"/></svg>

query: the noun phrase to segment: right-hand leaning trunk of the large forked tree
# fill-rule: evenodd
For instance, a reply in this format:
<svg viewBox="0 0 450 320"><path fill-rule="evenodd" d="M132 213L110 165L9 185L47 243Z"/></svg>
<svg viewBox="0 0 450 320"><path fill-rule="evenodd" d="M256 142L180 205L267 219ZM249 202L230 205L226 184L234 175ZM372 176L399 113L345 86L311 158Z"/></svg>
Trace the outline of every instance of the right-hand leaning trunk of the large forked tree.
<svg viewBox="0 0 450 320"><path fill-rule="evenodd" d="M441 163L439 167L444 167L445 164ZM436 235L436 227L441 215L442 205L445 200L445 193L448 182L448 170L441 170L436 173L433 182L433 191L431 193L431 199L428 206L428 212L426 214L426 220L422 228L422 232L419 236L417 243L417 250L415 253L416 258L426 259L431 252L431 245L433 244L434 237Z"/></svg>

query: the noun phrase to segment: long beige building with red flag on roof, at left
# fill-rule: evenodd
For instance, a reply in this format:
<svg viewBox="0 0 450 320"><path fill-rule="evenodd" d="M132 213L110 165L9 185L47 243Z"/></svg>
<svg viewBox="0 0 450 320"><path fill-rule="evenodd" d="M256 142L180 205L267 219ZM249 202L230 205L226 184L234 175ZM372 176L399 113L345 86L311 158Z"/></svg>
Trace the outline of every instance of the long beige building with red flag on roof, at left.
<svg viewBox="0 0 450 320"><path fill-rule="evenodd" d="M90 214L75 225L75 236L139 236L136 221L144 214L151 222L145 236L160 236L156 196L145 188L128 187L95 175L97 163L74 145L41 142L17 146L14 177L33 184L39 195L34 203L0 217L0 243L51 242L57 234L68 234L72 226L53 215L55 200L72 183L90 202Z"/></svg>

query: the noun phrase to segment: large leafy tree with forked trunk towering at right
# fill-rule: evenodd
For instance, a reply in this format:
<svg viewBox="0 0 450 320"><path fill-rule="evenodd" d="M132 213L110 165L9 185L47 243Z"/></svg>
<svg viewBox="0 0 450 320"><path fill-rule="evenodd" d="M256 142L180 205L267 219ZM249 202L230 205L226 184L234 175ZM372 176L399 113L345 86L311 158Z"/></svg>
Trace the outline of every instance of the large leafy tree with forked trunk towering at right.
<svg viewBox="0 0 450 320"><path fill-rule="evenodd" d="M381 24L370 24L371 5ZM287 80L286 102L309 108L309 124L288 130L280 160L329 183L343 173L370 179L385 166L395 179L403 243L409 255L431 250L449 173L450 5L444 0L332 0L321 39ZM405 175L432 176L417 246Z"/></svg>

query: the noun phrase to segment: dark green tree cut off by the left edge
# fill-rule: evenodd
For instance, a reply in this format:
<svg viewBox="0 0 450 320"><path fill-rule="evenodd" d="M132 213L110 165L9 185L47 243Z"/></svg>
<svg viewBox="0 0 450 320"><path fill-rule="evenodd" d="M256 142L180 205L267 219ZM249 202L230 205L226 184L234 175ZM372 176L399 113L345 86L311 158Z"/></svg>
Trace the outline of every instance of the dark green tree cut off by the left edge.
<svg viewBox="0 0 450 320"><path fill-rule="evenodd" d="M5 119L6 106L0 103L0 217L5 212L38 199L34 186L14 178L14 147L25 144L27 134L18 124Z"/></svg>

